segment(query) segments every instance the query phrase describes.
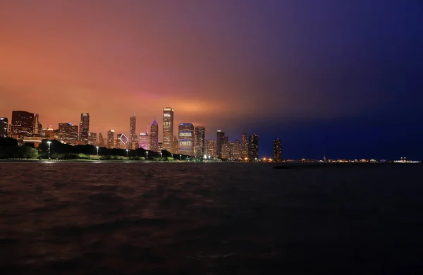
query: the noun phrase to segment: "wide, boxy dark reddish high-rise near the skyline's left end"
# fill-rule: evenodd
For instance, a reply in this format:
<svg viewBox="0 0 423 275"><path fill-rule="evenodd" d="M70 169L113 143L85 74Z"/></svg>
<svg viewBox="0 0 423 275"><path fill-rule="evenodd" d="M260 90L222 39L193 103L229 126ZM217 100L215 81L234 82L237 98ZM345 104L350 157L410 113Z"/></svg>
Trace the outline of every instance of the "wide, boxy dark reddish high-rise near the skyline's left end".
<svg viewBox="0 0 423 275"><path fill-rule="evenodd" d="M27 111L12 111L11 137L23 142L23 137L34 133L34 121L37 114Z"/></svg>

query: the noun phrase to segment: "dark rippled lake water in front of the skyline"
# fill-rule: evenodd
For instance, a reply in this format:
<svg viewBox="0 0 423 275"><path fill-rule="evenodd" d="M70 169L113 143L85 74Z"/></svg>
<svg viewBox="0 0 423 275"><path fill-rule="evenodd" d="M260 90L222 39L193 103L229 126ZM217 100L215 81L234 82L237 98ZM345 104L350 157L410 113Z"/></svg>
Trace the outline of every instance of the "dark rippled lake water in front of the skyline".
<svg viewBox="0 0 423 275"><path fill-rule="evenodd" d="M422 166L0 163L0 274L422 274Z"/></svg>

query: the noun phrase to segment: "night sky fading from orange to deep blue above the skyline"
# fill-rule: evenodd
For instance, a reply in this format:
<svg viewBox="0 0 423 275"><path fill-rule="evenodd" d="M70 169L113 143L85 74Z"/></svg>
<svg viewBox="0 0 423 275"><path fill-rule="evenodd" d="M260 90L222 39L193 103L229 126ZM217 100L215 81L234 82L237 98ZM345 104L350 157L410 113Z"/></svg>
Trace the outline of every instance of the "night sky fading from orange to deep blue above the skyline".
<svg viewBox="0 0 423 275"><path fill-rule="evenodd" d="M259 134L260 157L419 160L423 1L4 0L0 95L44 127L161 130L171 106L207 139Z"/></svg>

